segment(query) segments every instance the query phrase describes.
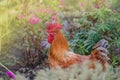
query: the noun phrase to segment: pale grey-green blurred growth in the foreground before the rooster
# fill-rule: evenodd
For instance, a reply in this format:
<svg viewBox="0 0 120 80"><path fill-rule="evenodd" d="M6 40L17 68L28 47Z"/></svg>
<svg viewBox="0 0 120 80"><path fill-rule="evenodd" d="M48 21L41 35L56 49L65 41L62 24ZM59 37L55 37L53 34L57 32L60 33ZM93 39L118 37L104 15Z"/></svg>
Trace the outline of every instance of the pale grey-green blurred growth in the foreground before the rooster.
<svg viewBox="0 0 120 80"><path fill-rule="evenodd" d="M105 72L100 64L96 64L96 69L88 69L86 63L82 66L73 65L67 69L57 68L55 70L39 70L35 80L120 80L120 67L113 69L107 66ZM0 80L3 80L0 78ZM17 73L15 80L28 80L23 75Z"/></svg>

